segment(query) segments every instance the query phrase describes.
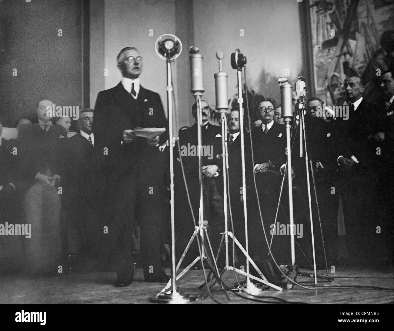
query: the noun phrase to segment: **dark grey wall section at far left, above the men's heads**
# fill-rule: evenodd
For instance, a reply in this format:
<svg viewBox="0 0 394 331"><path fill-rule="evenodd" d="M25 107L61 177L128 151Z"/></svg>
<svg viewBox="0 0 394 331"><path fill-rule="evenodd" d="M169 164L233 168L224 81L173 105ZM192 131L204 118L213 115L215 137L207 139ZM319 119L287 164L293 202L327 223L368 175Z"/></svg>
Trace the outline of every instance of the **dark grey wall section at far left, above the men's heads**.
<svg viewBox="0 0 394 331"><path fill-rule="evenodd" d="M81 106L81 13L82 0L0 1L3 126L15 125L22 116L34 119L42 98Z"/></svg>

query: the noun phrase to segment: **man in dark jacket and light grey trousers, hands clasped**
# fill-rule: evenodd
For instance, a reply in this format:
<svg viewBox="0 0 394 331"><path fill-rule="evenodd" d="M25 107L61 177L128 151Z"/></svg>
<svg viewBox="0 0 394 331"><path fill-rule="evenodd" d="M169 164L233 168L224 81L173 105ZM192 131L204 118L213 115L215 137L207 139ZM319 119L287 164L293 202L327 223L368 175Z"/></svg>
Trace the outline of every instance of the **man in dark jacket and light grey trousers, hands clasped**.
<svg viewBox="0 0 394 331"><path fill-rule="evenodd" d="M45 99L37 104L38 123L20 128L17 144L20 177L24 186L24 222L32 225L32 237L25 244L26 260L33 275L56 274L59 258L59 220L61 195L58 186L64 182L60 137L66 130L53 125Z"/></svg>

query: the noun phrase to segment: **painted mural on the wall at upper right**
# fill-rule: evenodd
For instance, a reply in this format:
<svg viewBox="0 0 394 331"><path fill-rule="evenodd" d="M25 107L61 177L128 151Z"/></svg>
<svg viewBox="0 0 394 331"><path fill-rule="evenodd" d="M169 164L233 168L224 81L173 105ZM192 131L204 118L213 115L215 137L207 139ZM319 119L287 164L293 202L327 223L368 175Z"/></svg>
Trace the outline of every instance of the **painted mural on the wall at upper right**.
<svg viewBox="0 0 394 331"><path fill-rule="evenodd" d="M309 0L316 96L344 102L344 80L360 76L379 103L379 74L394 65L393 0ZM379 70L380 69L380 72Z"/></svg>

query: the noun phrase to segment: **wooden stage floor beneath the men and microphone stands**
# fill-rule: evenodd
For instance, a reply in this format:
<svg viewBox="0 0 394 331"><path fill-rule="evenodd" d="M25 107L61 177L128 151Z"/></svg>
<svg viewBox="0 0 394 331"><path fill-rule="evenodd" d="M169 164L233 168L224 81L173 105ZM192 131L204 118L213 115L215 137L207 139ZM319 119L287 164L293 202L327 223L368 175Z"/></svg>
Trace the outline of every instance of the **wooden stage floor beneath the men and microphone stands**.
<svg viewBox="0 0 394 331"><path fill-rule="evenodd" d="M167 273L169 273L168 269ZM391 289L391 291L366 288L307 290L298 286L292 290L286 290L286 284L283 284L282 292L269 289L260 292L260 295L300 303L392 303L394 301L393 269L377 271L344 267L337 268L333 275L335 276L334 282L318 280L318 285L327 287L378 286ZM136 269L132 285L123 288L113 286L116 279L115 272L57 275L38 279L22 275L1 275L0 277L0 303L149 303L149 299L164 287L164 284L160 283L144 283L141 269ZM242 277L239 278L242 279ZM177 282L177 286L187 294L204 294L204 290L198 289L203 279L201 270L192 270ZM225 272L223 281L229 286L236 283L232 271ZM313 285L313 279L310 278L298 276L297 281L305 286ZM231 292L228 293L230 301L226 300L217 286L212 291L214 298L223 303L256 303L240 298ZM276 299L265 300L277 301ZM199 299L195 303L214 303L214 301L207 298Z"/></svg>

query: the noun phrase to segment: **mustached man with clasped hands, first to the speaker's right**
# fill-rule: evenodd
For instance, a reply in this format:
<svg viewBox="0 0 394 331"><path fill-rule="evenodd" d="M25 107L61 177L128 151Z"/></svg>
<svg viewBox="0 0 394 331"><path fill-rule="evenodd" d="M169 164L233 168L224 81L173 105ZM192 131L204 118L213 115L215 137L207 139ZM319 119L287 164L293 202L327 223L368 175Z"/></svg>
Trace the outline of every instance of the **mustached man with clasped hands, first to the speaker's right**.
<svg viewBox="0 0 394 331"><path fill-rule="evenodd" d="M195 119L194 125L190 126L179 133L179 144L182 146L197 146L197 102L195 102L191 108L191 113ZM222 153L221 148L221 127L212 125L208 122L210 116L210 107L204 100L201 101L201 135L202 144L206 151L210 150L211 155L202 154L202 172L203 172L203 201L204 201L204 220L208 220L208 234L212 245L214 246L214 252L217 252L218 244L220 241L220 234L224 228L223 223L223 177L222 177L222 160L216 158L217 154ZM203 149L203 151L204 151ZM182 155L182 163L184 167L186 182L188 184L188 190L190 193L191 205L193 208L196 222L198 222L198 211L200 201L200 186L199 186L199 172L198 172L198 155ZM178 156L179 158L179 156ZM178 177L177 184L177 213L179 217L176 219L181 220L178 222L177 227L183 229L178 233L182 233L182 239L179 240L177 247L178 255L183 252L191 234L193 233L193 223L191 221L190 212L185 212L185 206L188 208L188 201L185 200L186 192L183 184L182 173ZM180 208L179 208L180 207ZM193 260L197 255L197 247L193 246L189 254L187 255L188 260Z"/></svg>

